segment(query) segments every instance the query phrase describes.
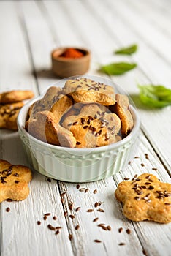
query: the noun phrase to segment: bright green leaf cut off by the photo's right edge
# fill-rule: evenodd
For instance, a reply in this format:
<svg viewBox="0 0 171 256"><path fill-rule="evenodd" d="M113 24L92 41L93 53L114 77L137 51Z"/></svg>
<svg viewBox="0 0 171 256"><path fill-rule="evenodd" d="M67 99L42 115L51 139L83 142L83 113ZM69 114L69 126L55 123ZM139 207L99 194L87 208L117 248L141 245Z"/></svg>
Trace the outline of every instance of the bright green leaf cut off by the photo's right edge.
<svg viewBox="0 0 171 256"><path fill-rule="evenodd" d="M154 86L152 84L147 86L140 86L140 100L150 108L164 108L171 105L171 90L165 86Z"/></svg>

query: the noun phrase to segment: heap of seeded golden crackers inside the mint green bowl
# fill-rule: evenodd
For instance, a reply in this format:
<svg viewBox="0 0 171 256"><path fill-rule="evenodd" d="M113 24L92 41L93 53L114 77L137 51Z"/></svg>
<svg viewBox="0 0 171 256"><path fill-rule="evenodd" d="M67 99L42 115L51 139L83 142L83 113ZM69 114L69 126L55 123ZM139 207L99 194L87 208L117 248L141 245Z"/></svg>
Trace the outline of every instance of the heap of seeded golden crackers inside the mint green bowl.
<svg viewBox="0 0 171 256"><path fill-rule="evenodd" d="M134 126L126 95L87 78L50 87L31 105L26 130L47 143L70 148L107 146L125 138Z"/></svg>

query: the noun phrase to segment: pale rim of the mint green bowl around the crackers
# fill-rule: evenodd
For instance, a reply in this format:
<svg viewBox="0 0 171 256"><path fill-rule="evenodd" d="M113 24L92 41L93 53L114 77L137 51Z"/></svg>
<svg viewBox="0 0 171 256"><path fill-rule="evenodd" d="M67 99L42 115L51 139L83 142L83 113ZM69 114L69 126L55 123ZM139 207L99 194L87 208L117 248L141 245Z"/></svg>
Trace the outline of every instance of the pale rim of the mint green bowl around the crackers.
<svg viewBox="0 0 171 256"><path fill-rule="evenodd" d="M137 113L137 110L135 110L135 108L132 105L129 105L129 110L131 111L133 118L134 118L134 127L132 128L132 131L129 133L129 135L126 136L126 138L123 138L122 140L119 140L116 143L112 143L110 145L107 146L100 146L100 147L96 147L96 148L67 148L67 147L62 147L62 146L56 146L56 145L52 145L49 143L46 143L42 140L38 140L37 138L34 138L34 136L30 135L25 127L25 122L26 119L23 120L23 116L28 113L28 109L29 107L36 102L37 100L41 99L43 97L44 94L41 94L39 97L35 97L34 99L29 100L26 105L23 106L23 108L20 109L20 112L18 114L18 118L17 118L17 124L18 124L18 129L20 130L20 132L23 133L23 135L25 135L27 138L33 140L35 143L39 144L40 146L43 147L48 147L52 150L58 150L58 151L69 151L69 153L83 153L85 152L86 154L91 153L92 150L94 153L99 153L99 152L104 152L104 151L111 151L114 150L120 146L125 145L126 143L129 142L129 140L132 140L132 138L134 138L134 135L137 134L137 132L140 129L140 117Z"/></svg>

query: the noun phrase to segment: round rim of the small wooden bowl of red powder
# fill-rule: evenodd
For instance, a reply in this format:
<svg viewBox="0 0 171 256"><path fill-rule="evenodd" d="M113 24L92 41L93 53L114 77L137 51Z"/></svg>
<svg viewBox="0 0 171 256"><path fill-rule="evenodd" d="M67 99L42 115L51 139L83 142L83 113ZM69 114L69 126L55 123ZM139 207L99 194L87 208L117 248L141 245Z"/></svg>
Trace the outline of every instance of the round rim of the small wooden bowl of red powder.
<svg viewBox="0 0 171 256"><path fill-rule="evenodd" d="M80 58L66 58L66 57L54 57L53 54L57 51L57 50L66 50L69 48L73 48L73 49L77 49L77 50L83 50L86 54ZM58 47L52 50L51 52L51 57L54 61L64 61L64 62L69 62L69 61L80 61L83 59L87 59L89 56L91 55L90 50L86 49L86 48L80 48L80 47L76 47L76 46L66 46L66 47Z"/></svg>

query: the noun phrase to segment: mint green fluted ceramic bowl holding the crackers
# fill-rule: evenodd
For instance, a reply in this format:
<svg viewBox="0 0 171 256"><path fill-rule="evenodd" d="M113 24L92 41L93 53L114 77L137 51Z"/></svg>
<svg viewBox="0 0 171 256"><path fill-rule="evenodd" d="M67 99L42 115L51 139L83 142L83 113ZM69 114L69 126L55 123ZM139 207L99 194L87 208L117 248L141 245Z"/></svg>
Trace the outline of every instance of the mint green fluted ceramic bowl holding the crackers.
<svg viewBox="0 0 171 256"><path fill-rule="evenodd" d="M132 106L134 127L123 140L99 148L64 148L37 140L24 129L28 109L37 99L29 101L20 110L18 129L28 161L39 173L61 181L98 181L123 170L134 157L139 141L140 118Z"/></svg>

